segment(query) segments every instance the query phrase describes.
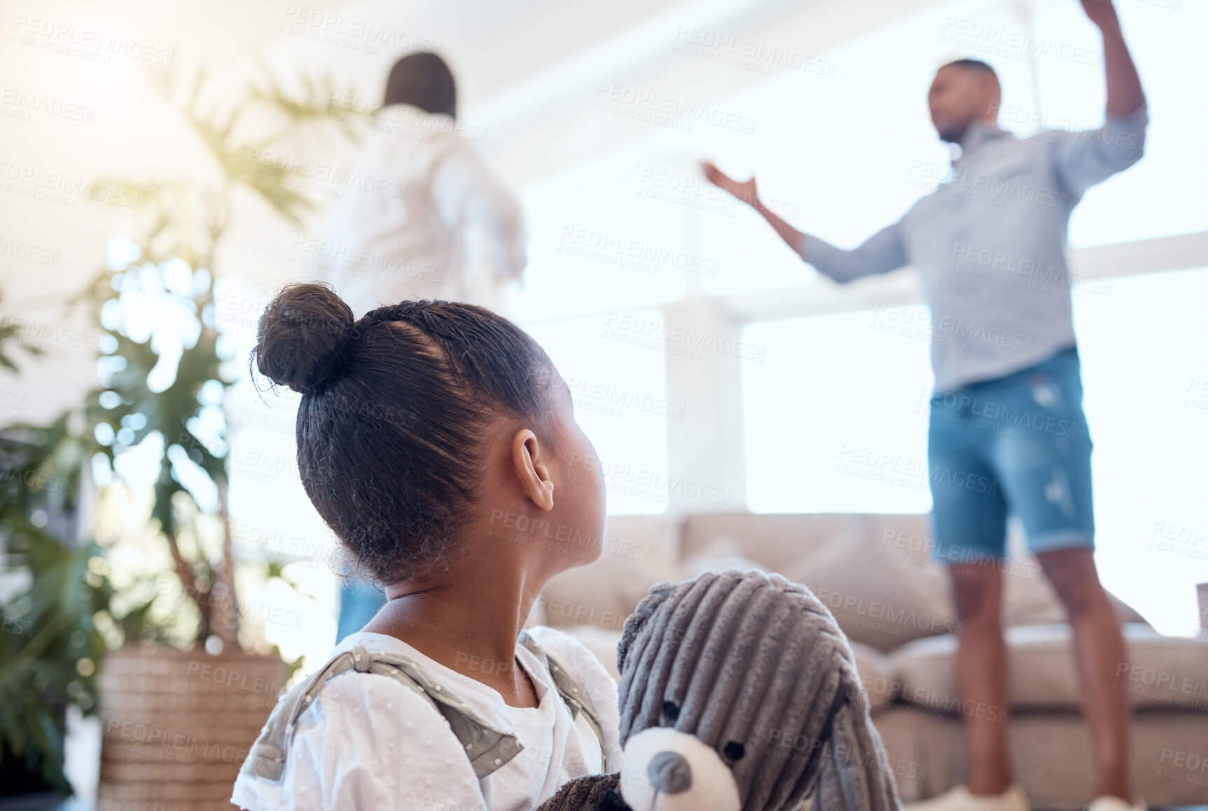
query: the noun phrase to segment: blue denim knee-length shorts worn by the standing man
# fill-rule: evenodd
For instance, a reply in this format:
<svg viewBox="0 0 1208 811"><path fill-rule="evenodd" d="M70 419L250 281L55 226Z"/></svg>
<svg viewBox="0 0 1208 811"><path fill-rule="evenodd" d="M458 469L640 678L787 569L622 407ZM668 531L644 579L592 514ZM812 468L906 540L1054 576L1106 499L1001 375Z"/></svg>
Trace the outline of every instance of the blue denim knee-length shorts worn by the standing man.
<svg viewBox="0 0 1208 811"><path fill-rule="evenodd" d="M1078 349L931 396L928 475L934 555L1001 558L1018 516L1033 554L1094 549L1091 436Z"/></svg>

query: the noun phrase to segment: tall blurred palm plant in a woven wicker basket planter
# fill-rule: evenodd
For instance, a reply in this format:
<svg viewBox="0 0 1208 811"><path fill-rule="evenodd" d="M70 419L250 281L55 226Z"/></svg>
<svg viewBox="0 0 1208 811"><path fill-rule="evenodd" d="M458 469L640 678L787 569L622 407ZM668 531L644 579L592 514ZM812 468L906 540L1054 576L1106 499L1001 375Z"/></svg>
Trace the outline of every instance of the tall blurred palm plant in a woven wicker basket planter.
<svg viewBox="0 0 1208 811"><path fill-rule="evenodd" d="M216 115L201 110L203 86L198 80L181 109L216 180L130 186L145 201L146 230L111 243L85 296L112 336L100 359L101 388L88 399L88 429L114 467L124 448L152 438L162 444L150 515L170 552L178 610L185 603L196 618L190 647L128 645L104 662L101 809L226 806L286 676L279 656L240 649L222 411L239 364L227 363L213 268L237 190L250 189L295 226L309 205L288 168L249 173L250 156L280 149L303 124L348 131L329 116L338 97L327 87L307 83L297 98L262 82ZM256 128L249 120L277 124L251 140L240 134ZM146 746L143 729L163 745Z"/></svg>

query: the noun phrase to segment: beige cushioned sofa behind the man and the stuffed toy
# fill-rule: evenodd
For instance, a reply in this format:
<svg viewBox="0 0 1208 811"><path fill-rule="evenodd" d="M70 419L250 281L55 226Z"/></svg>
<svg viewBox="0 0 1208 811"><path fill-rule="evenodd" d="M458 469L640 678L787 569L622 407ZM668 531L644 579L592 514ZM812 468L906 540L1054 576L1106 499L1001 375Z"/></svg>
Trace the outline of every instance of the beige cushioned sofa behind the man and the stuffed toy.
<svg viewBox="0 0 1208 811"><path fill-rule="evenodd" d="M927 554L927 516L617 516L605 537L600 560L558 575L541 607L546 622L570 630L614 673L621 626L651 584L759 567L811 586L847 632L904 801L963 780L963 712L1005 719L957 695L959 627L946 574ZM1034 560L1012 557L1004 570L1016 774L1035 807L1082 807L1092 753L1069 626ZM1151 807L1208 803L1208 641L1163 637L1116 608L1129 662L1113 678L1132 700L1136 786Z"/></svg>

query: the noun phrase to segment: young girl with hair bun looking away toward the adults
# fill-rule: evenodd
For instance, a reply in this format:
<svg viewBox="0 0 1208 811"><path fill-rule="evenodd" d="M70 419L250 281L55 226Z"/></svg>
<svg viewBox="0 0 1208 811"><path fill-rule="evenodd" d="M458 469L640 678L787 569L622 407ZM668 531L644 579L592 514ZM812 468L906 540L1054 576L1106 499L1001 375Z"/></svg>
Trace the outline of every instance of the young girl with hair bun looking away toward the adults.
<svg viewBox="0 0 1208 811"><path fill-rule="evenodd" d="M522 633L604 527L596 452L545 352L472 305L354 321L316 284L283 290L257 337L260 371L302 393L307 494L389 602L281 697L232 801L528 811L618 766L603 665L567 635Z"/></svg>

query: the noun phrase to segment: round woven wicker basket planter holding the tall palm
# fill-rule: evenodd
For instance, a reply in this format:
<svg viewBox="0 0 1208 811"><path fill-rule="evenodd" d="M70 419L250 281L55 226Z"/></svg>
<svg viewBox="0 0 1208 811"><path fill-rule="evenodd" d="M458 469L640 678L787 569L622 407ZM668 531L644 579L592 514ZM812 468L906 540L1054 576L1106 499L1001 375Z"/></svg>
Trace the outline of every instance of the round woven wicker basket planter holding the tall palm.
<svg viewBox="0 0 1208 811"><path fill-rule="evenodd" d="M109 654L97 811L231 811L231 787L284 677L275 656L134 645Z"/></svg>

